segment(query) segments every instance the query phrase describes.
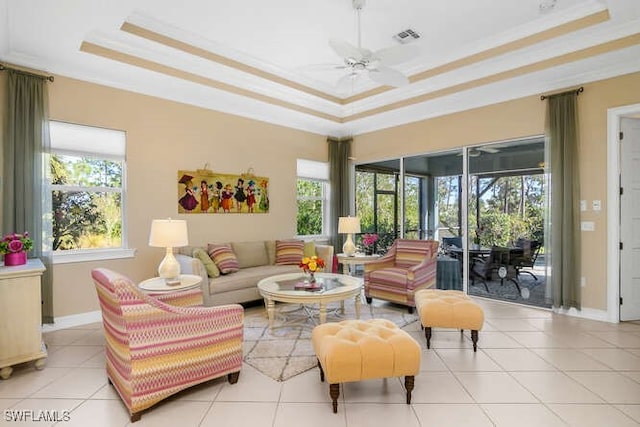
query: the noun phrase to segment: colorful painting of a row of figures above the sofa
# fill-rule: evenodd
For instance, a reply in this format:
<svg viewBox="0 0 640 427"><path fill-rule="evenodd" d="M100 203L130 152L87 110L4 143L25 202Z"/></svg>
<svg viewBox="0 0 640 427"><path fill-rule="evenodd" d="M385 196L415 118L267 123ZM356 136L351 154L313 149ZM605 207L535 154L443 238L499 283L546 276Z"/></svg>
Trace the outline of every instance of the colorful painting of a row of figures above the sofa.
<svg viewBox="0 0 640 427"><path fill-rule="evenodd" d="M178 171L178 213L267 213L269 179L205 169Z"/></svg>

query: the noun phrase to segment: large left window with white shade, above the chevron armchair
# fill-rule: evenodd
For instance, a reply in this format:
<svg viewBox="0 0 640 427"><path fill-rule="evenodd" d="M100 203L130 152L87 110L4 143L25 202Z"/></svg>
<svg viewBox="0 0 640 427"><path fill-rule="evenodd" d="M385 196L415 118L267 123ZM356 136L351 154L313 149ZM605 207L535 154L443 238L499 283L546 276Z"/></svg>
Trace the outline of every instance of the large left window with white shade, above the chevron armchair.
<svg viewBox="0 0 640 427"><path fill-rule="evenodd" d="M56 262L119 257L114 250L126 248L125 133L52 121L50 135L51 221L45 225ZM80 259L60 260L79 253Z"/></svg>

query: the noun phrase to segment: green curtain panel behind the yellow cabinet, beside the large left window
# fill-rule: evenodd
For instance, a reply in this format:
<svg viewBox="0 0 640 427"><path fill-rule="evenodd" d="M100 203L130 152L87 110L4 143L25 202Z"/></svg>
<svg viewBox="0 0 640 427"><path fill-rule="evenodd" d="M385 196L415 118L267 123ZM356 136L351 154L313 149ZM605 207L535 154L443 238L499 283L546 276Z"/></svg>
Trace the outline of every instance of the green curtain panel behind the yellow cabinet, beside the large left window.
<svg viewBox="0 0 640 427"><path fill-rule="evenodd" d="M34 240L29 257L42 260L42 320L53 323L51 255L43 250L50 215L44 184L45 154L49 153L47 78L18 70L7 71L5 134L3 141L3 235L28 231ZM45 201L45 202L43 202Z"/></svg>

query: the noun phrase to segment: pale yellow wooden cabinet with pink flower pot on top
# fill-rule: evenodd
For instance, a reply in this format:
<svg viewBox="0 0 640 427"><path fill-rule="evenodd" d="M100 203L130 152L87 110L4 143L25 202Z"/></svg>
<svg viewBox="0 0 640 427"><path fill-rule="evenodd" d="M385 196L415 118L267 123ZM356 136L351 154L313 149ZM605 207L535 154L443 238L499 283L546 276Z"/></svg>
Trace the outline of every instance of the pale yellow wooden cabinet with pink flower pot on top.
<svg viewBox="0 0 640 427"><path fill-rule="evenodd" d="M45 268L39 259L26 264L0 266L0 378L6 380L13 365L35 360L44 367L47 351L42 343L40 279Z"/></svg>

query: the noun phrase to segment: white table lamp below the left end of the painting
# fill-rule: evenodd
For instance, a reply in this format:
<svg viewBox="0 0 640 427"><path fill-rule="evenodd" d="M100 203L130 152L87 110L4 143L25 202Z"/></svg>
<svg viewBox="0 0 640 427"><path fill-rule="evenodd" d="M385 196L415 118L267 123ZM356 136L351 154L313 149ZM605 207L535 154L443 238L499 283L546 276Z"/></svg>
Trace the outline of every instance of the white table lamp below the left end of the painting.
<svg viewBox="0 0 640 427"><path fill-rule="evenodd" d="M153 220L149 233L149 246L167 248L167 253L158 266L158 276L165 280L178 278L180 264L173 255L173 248L188 244L187 221L171 218Z"/></svg>

